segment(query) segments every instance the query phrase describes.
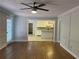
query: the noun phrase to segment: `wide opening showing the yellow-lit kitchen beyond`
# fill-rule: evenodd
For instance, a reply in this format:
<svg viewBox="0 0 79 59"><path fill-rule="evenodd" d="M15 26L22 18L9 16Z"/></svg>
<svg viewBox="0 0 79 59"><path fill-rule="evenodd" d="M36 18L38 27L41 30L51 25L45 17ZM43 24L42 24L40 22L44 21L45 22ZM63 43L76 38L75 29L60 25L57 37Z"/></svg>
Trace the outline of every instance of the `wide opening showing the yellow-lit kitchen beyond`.
<svg viewBox="0 0 79 59"><path fill-rule="evenodd" d="M55 41L55 21L29 20L28 41Z"/></svg>

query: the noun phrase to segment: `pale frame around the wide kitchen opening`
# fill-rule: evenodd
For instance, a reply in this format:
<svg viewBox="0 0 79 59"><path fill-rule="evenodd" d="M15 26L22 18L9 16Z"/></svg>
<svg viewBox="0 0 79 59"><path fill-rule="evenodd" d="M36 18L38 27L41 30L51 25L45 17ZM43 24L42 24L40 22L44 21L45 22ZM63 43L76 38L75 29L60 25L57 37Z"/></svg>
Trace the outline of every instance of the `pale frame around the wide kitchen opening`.
<svg viewBox="0 0 79 59"><path fill-rule="evenodd" d="M54 40L52 39L53 42L57 42L57 24L58 24L58 18L37 18L37 19L31 19L31 20L52 20L52 21L55 21L55 28L54 28ZM33 22L33 21L32 21ZM28 23L29 23L29 20L27 20L27 39L28 39ZM28 41L28 40L27 40Z"/></svg>

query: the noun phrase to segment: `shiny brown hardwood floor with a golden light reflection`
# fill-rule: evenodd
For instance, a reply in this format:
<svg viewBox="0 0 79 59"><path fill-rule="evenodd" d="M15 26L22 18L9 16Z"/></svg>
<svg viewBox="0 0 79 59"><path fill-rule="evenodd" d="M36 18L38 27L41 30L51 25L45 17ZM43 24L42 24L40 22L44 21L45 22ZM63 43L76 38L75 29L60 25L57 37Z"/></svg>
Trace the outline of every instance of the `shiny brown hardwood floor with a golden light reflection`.
<svg viewBox="0 0 79 59"><path fill-rule="evenodd" d="M15 42L0 51L0 59L75 59L53 42Z"/></svg>

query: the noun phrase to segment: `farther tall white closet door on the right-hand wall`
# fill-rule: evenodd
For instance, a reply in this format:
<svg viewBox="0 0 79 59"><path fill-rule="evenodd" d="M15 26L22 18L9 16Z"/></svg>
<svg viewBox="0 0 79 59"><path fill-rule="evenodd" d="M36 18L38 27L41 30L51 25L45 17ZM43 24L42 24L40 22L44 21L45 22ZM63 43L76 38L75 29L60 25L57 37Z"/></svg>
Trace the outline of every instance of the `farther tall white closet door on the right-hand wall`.
<svg viewBox="0 0 79 59"><path fill-rule="evenodd" d="M69 34L70 33L70 15L61 17L60 24L60 42L66 48L69 48Z"/></svg>

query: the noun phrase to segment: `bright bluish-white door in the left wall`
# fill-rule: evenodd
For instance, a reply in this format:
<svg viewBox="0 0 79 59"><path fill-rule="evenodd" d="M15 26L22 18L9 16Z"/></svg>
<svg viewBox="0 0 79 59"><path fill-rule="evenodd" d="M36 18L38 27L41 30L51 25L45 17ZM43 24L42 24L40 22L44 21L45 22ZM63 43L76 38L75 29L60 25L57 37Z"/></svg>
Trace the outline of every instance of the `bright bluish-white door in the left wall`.
<svg viewBox="0 0 79 59"><path fill-rule="evenodd" d="M12 24L13 24L13 21L11 18L8 18L7 19L7 42L11 42L12 40Z"/></svg>

